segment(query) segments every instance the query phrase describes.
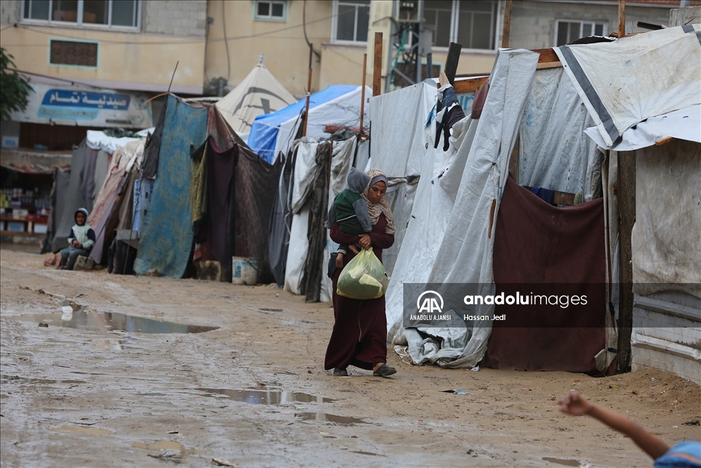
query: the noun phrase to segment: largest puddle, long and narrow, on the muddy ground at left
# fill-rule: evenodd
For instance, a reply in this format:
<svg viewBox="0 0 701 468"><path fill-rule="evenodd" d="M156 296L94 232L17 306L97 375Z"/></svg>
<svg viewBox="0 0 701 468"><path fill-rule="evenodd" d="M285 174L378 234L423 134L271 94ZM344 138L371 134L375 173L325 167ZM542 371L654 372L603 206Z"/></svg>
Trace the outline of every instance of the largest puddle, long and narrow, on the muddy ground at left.
<svg viewBox="0 0 701 468"><path fill-rule="evenodd" d="M77 328L100 332L125 331L128 333L203 333L219 327L186 325L144 317L120 314L118 312L93 312L78 309L67 314L34 314L8 317L13 320L43 322L52 326ZM123 343L121 343L123 344ZM109 343L109 345L112 345Z"/></svg>

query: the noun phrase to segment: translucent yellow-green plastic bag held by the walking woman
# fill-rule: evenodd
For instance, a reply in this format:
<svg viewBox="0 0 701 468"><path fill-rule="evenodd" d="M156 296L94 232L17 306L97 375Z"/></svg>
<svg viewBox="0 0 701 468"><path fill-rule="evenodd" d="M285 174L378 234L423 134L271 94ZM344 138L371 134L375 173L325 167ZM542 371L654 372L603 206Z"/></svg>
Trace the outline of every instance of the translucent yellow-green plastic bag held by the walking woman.
<svg viewBox="0 0 701 468"><path fill-rule="evenodd" d="M371 247L360 250L343 268L336 293L351 299L377 299L386 293L389 282L385 267Z"/></svg>

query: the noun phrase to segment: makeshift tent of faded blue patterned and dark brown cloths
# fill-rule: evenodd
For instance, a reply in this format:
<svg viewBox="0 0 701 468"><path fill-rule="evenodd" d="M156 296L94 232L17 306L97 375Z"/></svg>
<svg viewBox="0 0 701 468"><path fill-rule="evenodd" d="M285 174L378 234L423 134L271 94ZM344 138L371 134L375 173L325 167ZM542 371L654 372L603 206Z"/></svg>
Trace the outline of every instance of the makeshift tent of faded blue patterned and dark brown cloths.
<svg viewBox="0 0 701 468"><path fill-rule="evenodd" d="M216 261L219 279L231 281L236 255L259 258L259 281L271 281L268 231L281 163L262 161L217 107L175 95L154 135L160 138L144 152L144 177L134 184L135 272L181 278L194 260Z"/></svg>

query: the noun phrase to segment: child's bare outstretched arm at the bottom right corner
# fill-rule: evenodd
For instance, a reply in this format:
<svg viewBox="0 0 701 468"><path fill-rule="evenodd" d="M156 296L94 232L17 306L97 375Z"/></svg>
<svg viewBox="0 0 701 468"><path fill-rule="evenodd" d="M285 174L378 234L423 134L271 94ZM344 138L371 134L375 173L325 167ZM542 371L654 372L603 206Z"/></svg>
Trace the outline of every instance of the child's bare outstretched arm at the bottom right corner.
<svg viewBox="0 0 701 468"><path fill-rule="evenodd" d="M653 434L650 434L624 415L604 408L603 406L590 403L578 392L570 392L569 394L561 396L557 400L557 404L560 407L559 410L561 413L574 416L590 415L603 422L608 427L611 427L611 429L615 429L629 436L636 445L650 455L653 460L657 460L669 450L669 446L658 436L653 436Z"/></svg>

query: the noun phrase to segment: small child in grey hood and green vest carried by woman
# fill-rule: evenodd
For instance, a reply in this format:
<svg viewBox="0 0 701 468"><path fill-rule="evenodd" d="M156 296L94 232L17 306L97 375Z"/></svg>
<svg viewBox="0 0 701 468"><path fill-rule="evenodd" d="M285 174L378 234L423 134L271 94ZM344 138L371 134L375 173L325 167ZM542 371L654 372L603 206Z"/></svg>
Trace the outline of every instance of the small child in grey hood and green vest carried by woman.
<svg viewBox="0 0 701 468"><path fill-rule="evenodd" d="M344 234L367 234L372 231L370 213L367 211L367 202L362 198L362 192L370 183L370 176L351 168L348 173L346 188L336 195L334 204L329 209L329 218L325 227L331 228L334 221L339 223L339 229ZM336 250L336 268L343 268L343 254L348 252L349 246L341 244ZM358 253L358 249L350 246L351 250Z"/></svg>

